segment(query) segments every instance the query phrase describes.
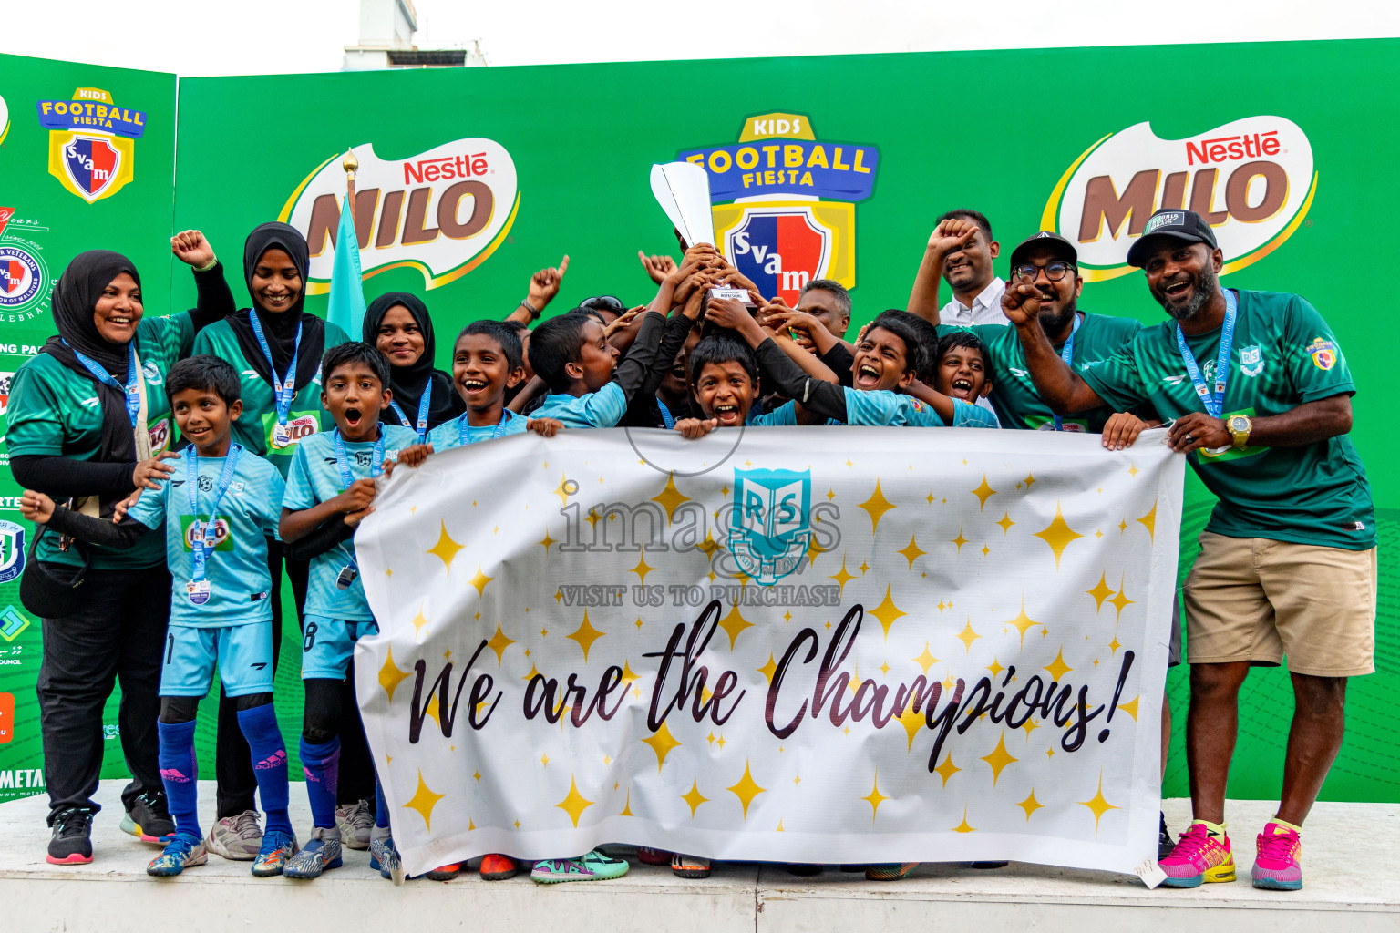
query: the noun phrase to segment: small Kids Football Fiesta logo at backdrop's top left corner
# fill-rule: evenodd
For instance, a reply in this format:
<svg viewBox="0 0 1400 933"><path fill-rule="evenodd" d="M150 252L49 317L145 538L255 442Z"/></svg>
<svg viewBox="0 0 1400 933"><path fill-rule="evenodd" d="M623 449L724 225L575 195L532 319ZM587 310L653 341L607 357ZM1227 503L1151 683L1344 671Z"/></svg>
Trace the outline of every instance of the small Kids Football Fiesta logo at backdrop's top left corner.
<svg viewBox="0 0 1400 933"><path fill-rule="evenodd" d="M98 88L77 88L71 101L39 101L49 130L49 175L88 204L111 197L134 178L136 140L146 115L112 102Z"/></svg>

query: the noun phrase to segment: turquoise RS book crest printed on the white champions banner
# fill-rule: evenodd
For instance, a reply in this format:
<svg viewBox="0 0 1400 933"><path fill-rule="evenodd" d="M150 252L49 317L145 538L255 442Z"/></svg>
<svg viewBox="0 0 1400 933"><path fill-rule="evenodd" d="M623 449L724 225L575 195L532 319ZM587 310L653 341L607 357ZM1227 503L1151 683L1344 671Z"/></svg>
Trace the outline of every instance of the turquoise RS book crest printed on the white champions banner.
<svg viewBox="0 0 1400 933"><path fill-rule="evenodd" d="M812 539L812 471L735 470L729 553L760 586L771 586L802 562Z"/></svg>

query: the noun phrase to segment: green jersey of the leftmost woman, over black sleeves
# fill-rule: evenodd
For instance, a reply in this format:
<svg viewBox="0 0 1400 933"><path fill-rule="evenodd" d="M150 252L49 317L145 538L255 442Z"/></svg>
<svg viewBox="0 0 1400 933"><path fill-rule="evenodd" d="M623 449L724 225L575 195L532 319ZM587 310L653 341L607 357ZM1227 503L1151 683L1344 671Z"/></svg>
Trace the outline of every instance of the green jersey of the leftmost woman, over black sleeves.
<svg viewBox="0 0 1400 933"><path fill-rule="evenodd" d="M169 318L141 318L136 326L136 357L146 382L146 429L151 456L168 450L178 436L171 404L165 397L165 372L189 355L195 322L189 312ZM10 456L64 456L74 460L97 457L102 443L102 407L97 383L74 372L46 352L27 359L10 385L6 443ZM146 536L136 547L116 551L90 547L92 567L120 569L158 567L165 562L160 536ZM45 534L36 553L41 561L80 565L76 550L60 551L59 536Z"/></svg>

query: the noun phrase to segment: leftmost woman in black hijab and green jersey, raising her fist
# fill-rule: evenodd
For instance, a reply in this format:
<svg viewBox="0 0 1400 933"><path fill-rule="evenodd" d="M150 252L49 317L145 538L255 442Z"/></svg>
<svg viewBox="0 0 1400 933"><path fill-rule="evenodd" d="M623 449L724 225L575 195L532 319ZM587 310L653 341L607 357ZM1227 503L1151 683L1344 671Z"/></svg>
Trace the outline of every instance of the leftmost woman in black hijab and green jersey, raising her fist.
<svg viewBox="0 0 1400 933"><path fill-rule="evenodd" d="M179 234L171 248L190 264L213 260L197 231ZM20 366L11 383L6 442L15 481L59 501L71 499L92 515L111 515L134 490L167 481L172 469L164 460L175 456L168 450L175 431L165 372L189 354L195 333L223 313L210 309L211 304L218 302L209 301L202 288L200 308L146 318L141 280L126 256L91 250L74 257L53 287L59 333ZM22 553L22 534L13 537ZM102 708L118 681L118 726L132 772L122 792L122 828L146 842L165 842L175 828L165 807L155 733L169 618L164 537L148 536L130 550L115 551L60 543L57 534L46 533L32 558L36 567L27 575L63 585L83 578L83 599L71 610L56 608L52 592L21 586L22 599L36 603L27 607L42 618L36 692L53 828L48 860L92 860ZM91 562L83 572L85 558ZM21 558L14 569L22 567ZM57 611L64 614L55 617Z"/></svg>

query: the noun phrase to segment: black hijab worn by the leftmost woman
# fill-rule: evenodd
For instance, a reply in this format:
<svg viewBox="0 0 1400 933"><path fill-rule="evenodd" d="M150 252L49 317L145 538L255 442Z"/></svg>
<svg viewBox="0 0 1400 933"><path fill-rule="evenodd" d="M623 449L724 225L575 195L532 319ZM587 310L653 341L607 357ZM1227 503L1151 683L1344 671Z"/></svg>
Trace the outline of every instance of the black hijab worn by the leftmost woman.
<svg viewBox="0 0 1400 933"><path fill-rule="evenodd" d="M59 333L49 337L39 351L49 354L80 376L91 379L97 387L97 397L102 408L102 438L95 460L101 463L133 463L136 460L132 417L126 411L126 393L99 382L78 361L74 350L106 369L118 385L126 385L126 366L130 361L127 344L130 341L119 344L108 341L98 333L92 320L102 291L122 273L129 274L140 287L141 277L136 274L136 266L120 253L91 249L74 256L53 285L53 323L57 325Z"/></svg>

